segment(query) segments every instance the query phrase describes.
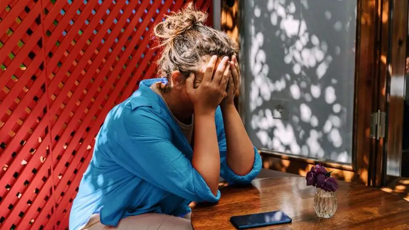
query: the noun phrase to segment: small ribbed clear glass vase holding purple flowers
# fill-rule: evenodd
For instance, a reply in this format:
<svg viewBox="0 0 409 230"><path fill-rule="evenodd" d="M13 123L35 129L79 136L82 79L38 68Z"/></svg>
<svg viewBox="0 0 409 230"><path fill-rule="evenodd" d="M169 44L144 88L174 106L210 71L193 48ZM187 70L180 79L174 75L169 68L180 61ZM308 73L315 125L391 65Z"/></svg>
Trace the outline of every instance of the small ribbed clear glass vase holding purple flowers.
<svg viewBox="0 0 409 230"><path fill-rule="evenodd" d="M314 196L314 210L318 217L331 218L338 208L334 192L318 189Z"/></svg>

